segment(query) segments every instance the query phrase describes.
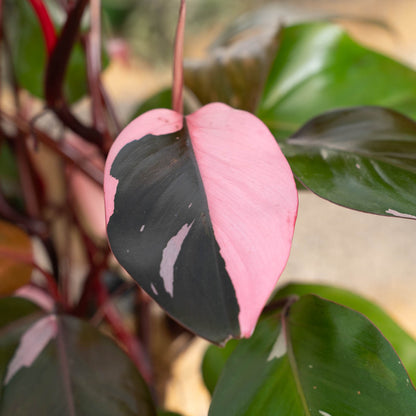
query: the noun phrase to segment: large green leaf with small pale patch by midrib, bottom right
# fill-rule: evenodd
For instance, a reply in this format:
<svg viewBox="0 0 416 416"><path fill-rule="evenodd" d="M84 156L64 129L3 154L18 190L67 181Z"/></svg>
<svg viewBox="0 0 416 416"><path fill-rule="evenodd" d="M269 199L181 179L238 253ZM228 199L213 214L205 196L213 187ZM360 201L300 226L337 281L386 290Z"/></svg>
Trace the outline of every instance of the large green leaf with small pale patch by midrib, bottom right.
<svg viewBox="0 0 416 416"><path fill-rule="evenodd" d="M240 342L209 415L415 413L416 391L381 333L361 314L306 295Z"/></svg>

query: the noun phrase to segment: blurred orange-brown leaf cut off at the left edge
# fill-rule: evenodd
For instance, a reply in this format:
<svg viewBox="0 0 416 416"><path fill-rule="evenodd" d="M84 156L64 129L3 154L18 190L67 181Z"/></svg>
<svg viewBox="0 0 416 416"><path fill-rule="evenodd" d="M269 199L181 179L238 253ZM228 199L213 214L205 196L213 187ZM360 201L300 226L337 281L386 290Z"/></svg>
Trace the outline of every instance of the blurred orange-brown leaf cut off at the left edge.
<svg viewBox="0 0 416 416"><path fill-rule="evenodd" d="M32 243L20 228L0 220L0 296L29 283Z"/></svg>

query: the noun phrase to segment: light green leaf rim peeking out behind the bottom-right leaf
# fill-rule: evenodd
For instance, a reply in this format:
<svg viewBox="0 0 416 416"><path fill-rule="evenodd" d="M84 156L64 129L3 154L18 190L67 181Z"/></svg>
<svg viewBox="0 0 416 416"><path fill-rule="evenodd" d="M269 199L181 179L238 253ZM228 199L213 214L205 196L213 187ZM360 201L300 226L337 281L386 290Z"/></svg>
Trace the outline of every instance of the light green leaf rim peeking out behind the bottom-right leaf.
<svg viewBox="0 0 416 416"><path fill-rule="evenodd" d="M291 295L315 294L362 313L389 340L402 360L410 378L416 384L416 341L404 331L383 309L361 296L333 286L289 284L281 288L270 303Z"/></svg>

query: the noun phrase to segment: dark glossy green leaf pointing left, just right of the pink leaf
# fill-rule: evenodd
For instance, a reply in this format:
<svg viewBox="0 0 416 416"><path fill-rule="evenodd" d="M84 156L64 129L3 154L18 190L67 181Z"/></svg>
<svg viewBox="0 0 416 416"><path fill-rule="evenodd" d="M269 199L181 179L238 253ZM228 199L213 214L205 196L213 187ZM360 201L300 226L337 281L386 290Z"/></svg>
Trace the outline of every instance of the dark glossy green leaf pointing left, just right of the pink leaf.
<svg viewBox="0 0 416 416"><path fill-rule="evenodd" d="M336 204L416 219L416 123L379 107L309 121L282 151L309 189Z"/></svg>

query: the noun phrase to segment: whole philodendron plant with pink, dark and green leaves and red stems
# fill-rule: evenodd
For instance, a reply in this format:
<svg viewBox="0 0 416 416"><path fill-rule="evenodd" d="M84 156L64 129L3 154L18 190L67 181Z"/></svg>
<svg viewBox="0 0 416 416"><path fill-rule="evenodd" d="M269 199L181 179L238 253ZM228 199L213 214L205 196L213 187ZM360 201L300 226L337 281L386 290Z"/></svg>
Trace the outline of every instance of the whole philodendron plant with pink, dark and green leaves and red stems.
<svg viewBox="0 0 416 416"><path fill-rule="evenodd" d="M15 103L0 108L1 416L170 414L155 389L150 298L213 344L202 363L210 415L416 414L416 343L379 307L328 286L275 291L297 187L416 219L413 70L320 21L276 28L256 52L261 70L224 46L234 27L184 76L182 0L173 87L118 133L100 80L100 1L0 8ZM87 92L91 125L70 106ZM33 96L59 137L33 118ZM79 296L72 239L86 258ZM134 284L120 283L125 272Z"/></svg>

